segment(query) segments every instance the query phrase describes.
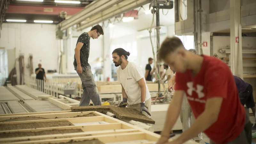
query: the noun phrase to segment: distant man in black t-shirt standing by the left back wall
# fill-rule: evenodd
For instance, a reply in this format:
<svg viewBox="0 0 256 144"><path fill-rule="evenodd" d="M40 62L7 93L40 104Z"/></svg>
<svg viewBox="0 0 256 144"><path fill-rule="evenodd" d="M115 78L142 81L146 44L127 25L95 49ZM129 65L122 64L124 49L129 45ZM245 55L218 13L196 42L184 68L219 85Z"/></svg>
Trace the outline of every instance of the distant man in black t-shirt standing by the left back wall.
<svg viewBox="0 0 256 144"><path fill-rule="evenodd" d="M36 68L35 73L36 73L37 90L39 90L39 83L40 83L41 90L44 92L44 81L46 82L46 75L45 75L44 68L42 68L41 63L38 64L38 68Z"/></svg>

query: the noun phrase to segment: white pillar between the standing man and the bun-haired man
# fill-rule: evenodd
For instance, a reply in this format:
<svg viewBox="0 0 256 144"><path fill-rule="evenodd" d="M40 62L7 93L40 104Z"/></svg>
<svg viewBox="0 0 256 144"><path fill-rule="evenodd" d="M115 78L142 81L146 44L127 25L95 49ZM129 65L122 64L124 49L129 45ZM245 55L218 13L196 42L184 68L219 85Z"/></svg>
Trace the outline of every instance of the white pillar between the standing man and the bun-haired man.
<svg viewBox="0 0 256 144"><path fill-rule="evenodd" d="M103 58L103 80L106 81L107 77L112 77L112 52L110 52L110 29L103 26L103 40L102 40L102 58Z"/></svg>

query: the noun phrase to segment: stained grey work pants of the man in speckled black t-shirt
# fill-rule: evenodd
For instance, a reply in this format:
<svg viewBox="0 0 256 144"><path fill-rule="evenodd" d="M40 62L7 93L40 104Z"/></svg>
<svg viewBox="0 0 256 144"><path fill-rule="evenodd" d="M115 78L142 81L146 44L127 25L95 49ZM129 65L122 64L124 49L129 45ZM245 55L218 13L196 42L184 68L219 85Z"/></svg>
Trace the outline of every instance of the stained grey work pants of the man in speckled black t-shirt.
<svg viewBox="0 0 256 144"><path fill-rule="evenodd" d="M76 70L76 66L74 67ZM91 66L82 66L82 69L83 72L81 74L77 73L81 78L84 90L79 106L88 106L91 100L95 106L100 106L100 96L92 75Z"/></svg>

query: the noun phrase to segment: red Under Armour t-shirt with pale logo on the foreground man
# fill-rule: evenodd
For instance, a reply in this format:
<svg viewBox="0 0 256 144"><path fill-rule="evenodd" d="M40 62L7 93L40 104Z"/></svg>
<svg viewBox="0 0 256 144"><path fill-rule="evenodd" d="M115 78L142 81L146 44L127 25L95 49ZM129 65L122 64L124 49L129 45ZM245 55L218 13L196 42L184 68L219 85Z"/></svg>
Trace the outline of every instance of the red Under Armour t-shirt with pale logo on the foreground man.
<svg viewBox="0 0 256 144"><path fill-rule="evenodd" d="M196 118L203 113L207 99L223 98L218 121L204 133L216 143L227 143L243 131L245 109L240 103L235 80L228 65L220 59L202 56L202 67L195 77L190 70L176 73L175 90L186 92Z"/></svg>

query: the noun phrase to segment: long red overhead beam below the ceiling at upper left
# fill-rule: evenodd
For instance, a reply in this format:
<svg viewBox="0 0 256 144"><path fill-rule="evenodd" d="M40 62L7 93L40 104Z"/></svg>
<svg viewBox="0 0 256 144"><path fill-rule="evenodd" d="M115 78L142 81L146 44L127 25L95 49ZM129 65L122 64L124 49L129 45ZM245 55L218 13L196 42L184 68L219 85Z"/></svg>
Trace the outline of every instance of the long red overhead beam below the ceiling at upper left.
<svg viewBox="0 0 256 144"><path fill-rule="evenodd" d="M84 7L10 4L6 13L59 15L61 11L65 11L68 15L74 15L77 12L81 11L83 8Z"/></svg>

